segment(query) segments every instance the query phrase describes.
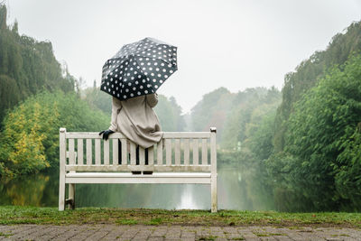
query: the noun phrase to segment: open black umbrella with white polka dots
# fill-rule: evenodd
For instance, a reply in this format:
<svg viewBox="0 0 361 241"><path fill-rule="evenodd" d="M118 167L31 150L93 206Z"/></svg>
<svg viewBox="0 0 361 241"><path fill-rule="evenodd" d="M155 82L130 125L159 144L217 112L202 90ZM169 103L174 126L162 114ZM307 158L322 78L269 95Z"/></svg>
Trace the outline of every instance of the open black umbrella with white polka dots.
<svg viewBox="0 0 361 241"><path fill-rule="evenodd" d="M100 89L120 100L152 94L176 70L177 47L145 38L106 60Z"/></svg>

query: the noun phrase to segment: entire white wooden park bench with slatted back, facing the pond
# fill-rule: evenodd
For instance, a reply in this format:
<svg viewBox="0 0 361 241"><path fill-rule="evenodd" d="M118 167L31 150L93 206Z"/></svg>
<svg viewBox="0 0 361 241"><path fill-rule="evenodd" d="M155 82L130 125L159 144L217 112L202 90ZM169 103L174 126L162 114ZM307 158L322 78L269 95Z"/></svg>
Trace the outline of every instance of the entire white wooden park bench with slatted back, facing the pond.
<svg viewBox="0 0 361 241"><path fill-rule="evenodd" d="M217 212L215 127L210 132L164 132L161 142L148 148L148 164L142 147L139 164L135 158L136 144L123 134L110 134L104 141L98 133L67 133L60 128L59 210L64 210L67 203L75 208L76 183L200 183L210 184L211 212ZM132 171L153 171L153 174ZM67 201L66 184L69 184Z"/></svg>

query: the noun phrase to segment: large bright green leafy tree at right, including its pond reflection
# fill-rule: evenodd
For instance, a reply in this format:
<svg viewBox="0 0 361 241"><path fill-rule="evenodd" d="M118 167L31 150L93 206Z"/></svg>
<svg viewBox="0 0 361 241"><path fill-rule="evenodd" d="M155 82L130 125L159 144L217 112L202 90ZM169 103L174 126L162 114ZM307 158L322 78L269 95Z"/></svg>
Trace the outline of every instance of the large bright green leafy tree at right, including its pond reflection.
<svg viewBox="0 0 361 241"><path fill-rule="evenodd" d="M361 208L360 66L361 55L351 56L294 104L284 154L270 162L272 176L285 171L276 187L307 199L309 209Z"/></svg>

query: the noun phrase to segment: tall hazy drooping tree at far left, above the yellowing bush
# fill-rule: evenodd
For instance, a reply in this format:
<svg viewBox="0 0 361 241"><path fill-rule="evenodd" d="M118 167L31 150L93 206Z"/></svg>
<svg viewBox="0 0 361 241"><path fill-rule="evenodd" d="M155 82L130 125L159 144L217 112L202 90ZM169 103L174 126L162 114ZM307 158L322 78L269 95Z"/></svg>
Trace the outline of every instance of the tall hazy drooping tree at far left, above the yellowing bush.
<svg viewBox="0 0 361 241"><path fill-rule="evenodd" d="M0 122L7 109L42 90L74 91L74 78L62 74L51 42L20 36L17 25L6 25L6 8L0 4Z"/></svg>

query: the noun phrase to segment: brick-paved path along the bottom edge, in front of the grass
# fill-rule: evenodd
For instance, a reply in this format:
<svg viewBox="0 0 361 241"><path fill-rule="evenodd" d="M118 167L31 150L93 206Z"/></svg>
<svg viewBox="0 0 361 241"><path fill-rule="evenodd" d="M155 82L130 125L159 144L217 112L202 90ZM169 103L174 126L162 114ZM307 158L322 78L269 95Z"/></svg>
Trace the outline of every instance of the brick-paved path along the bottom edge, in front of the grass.
<svg viewBox="0 0 361 241"><path fill-rule="evenodd" d="M144 225L9 225L0 240L361 240L347 227L203 227Z"/></svg>

